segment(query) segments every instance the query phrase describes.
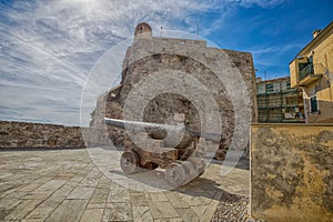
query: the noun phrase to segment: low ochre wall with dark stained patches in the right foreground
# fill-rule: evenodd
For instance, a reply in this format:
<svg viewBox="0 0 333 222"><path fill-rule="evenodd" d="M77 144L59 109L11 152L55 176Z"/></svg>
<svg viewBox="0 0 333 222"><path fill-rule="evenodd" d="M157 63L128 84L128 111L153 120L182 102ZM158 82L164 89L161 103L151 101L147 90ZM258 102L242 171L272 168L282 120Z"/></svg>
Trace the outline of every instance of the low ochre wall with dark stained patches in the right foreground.
<svg viewBox="0 0 333 222"><path fill-rule="evenodd" d="M332 221L333 124L251 127L251 214Z"/></svg>

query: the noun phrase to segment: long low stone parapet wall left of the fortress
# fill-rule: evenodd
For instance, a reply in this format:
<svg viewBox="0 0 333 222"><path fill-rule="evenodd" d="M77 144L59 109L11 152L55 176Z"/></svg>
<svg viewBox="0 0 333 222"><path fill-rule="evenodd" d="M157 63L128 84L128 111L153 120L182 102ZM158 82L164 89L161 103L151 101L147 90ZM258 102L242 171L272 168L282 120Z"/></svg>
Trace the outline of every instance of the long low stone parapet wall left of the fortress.
<svg viewBox="0 0 333 222"><path fill-rule="evenodd" d="M84 140L82 137L84 133ZM84 148L109 144L93 128L0 121L1 148Z"/></svg>

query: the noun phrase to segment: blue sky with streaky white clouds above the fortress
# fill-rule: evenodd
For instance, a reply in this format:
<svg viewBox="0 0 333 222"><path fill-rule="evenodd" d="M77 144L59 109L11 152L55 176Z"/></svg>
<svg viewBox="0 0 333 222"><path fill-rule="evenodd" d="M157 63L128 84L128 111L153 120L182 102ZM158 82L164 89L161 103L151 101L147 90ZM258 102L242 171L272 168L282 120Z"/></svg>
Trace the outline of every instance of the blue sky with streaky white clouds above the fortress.
<svg viewBox="0 0 333 222"><path fill-rule="evenodd" d="M331 0L0 0L0 120L80 125L90 71L142 21L251 52L272 79L332 12Z"/></svg>

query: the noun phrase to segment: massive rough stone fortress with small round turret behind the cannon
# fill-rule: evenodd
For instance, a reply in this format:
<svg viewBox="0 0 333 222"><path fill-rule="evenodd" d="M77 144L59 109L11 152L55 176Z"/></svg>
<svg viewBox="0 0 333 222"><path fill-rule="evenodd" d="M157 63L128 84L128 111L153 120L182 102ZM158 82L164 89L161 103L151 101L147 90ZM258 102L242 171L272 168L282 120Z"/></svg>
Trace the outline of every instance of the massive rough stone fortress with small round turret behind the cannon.
<svg viewBox="0 0 333 222"><path fill-rule="evenodd" d="M185 124L192 130L200 131L204 127L209 129L204 125L206 121L203 120L202 113L208 115L205 113L210 112L211 108L202 108L191 99L205 100L201 98L205 95L201 93L199 84L209 89L216 103L218 109L214 111L219 113L219 117L213 118L221 119L222 137L215 158L223 159L225 151L231 148L232 138L238 133L242 134L242 130L249 131L249 124L256 121L255 77L252 54L249 52L210 48L201 40L152 37L151 27L143 22L135 28L134 39L132 46L128 48L122 68L120 84L98 99L90 127L104 129L104 117L127 119L129 117L127 113L145 122L171 123L174 114L183 113ZM159 82L157 84L161 85L158 87L154 84L143 87L142 81L151 81L157 74L174 75L174 79L170 82ZM241 81L236 78L238 74ZM193 81L199 84L191 84ZM238 87L242 81L243 87ZM147 97L147 93L151 93L151 88L164 88L174 82L182 82L175 84L174 91L167 90L154 97L151 94L151 98ZM142 89L137 90L138 85L142 85ZM191 91L189 95L191 98L186 97L186 89ZM133 91L138 101L129 102ZM243 100L245 97L248 100ZM143 98L148 102L140 113L140 110L135 109L135 102L139 107ZM242 127L238 128L236 124ZM213 127L215 125L212 125L212 129ZM105 135L111 138L113 144L123 145L125 135L122 130L108 125L108 132L101 138ZM234 140L233 149L246 149L248 140L248 137L238 138Z"/></svg>

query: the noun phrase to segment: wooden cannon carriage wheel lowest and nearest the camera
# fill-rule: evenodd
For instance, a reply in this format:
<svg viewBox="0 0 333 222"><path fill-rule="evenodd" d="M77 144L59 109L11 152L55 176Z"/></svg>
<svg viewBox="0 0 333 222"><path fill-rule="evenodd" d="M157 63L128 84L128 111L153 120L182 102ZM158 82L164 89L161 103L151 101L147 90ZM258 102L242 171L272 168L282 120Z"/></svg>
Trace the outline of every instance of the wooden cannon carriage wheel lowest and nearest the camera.
<svg viewBox="0 0 333 222"><path fill-rule="evenodd" d="M180 163L171 163L165 170L165 180L172 188L183 185L186 176L186 171Z"/></svg>

